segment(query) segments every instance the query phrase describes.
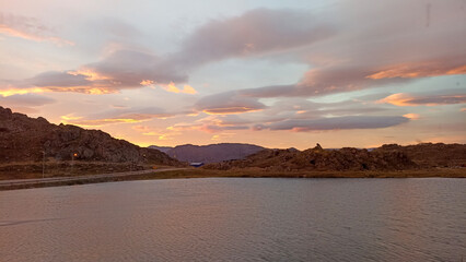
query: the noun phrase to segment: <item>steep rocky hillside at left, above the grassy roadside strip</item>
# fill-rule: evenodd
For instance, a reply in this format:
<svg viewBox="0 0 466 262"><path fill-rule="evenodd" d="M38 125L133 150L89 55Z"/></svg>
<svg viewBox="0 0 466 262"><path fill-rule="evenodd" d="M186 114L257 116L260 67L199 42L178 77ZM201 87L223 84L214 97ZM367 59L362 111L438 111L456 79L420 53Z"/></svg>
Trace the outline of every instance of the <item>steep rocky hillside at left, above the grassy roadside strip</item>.
<svg viewBox="0 0 466 262"><path fill-rule="evenodd" d="M49 123L0 107L0 163L57 160L178 165L166 154L112 138L100 130Z"/></svg>

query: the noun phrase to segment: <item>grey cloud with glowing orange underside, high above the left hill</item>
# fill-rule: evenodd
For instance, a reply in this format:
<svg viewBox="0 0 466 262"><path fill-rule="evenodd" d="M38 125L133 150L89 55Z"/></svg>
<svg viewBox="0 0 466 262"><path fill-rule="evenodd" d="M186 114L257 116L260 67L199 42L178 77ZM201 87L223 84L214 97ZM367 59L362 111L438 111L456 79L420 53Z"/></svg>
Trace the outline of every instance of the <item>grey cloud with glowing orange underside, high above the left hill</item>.
<svg viewBox="0 0 466 262"><path fill-rule="evenodd" d="M2 16L0 13L1 23ZM141 57L145 64L138 62ZM141 85L151 86L154 84L159 84L164 90L173 93L197 93L190 85L178 88L174 82L186 82L186 78L170 70L170 72L165 72L167 70L158 70L158 67L163 67L162 63L158 57L151 53L118 50L101 61L79 67L75 70L46 71L33 78L21 81L7 81L5 83L8 87L40 87L50 92L83 94L110 94L126 88L138 88ZM163 72L159 73L159 71Z"/></svg>

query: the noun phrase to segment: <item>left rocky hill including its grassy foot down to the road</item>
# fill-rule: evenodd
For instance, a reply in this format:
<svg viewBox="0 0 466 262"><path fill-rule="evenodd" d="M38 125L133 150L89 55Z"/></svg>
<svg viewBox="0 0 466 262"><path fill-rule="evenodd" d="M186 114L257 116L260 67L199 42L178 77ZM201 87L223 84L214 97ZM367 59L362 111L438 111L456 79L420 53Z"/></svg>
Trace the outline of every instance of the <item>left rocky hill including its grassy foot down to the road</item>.
<svg viewBox="0 0 466 262"><path fill-rule="evenodd" d="M40 172L93 174L179 166L178 160L151 148L112 138L100 130L49 123L0 107L1 178Z"/></svg>

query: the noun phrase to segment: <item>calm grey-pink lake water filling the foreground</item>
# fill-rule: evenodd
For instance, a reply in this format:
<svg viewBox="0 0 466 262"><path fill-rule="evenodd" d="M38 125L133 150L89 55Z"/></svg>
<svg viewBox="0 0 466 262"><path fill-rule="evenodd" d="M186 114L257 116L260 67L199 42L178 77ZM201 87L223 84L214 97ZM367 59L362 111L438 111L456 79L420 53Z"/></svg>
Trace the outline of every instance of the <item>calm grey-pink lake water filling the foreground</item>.
<svg viewBox="0 0 466 262"><path fill-rule="evenodd" d="M209 178L3 191L0 261L466 261L466 179Z"/></svg>

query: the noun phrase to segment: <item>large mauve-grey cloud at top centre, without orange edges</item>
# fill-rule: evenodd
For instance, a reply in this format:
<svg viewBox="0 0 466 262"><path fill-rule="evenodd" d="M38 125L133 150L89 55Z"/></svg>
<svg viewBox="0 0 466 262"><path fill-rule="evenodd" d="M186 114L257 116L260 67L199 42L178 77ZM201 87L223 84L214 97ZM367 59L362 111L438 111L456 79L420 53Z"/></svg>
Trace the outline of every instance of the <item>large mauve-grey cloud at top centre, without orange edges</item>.
<svg viewBox="0 0 466 262"><path fill-rule="evenodd" d="M210 21L183 40L171 57L191 68L232 57L281 52L328 38L335 28L307 11L255 9L240 16Z"/></svg>

